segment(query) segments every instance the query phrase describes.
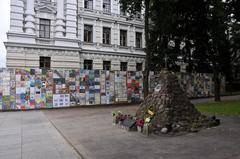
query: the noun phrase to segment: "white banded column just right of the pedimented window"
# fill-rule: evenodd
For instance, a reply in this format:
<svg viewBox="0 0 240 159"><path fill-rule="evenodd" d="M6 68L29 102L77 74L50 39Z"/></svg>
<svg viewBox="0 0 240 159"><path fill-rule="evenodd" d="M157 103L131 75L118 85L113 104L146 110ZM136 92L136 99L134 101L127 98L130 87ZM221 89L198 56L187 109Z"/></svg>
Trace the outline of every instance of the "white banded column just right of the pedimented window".
<svg viewBox="0 0 240 159"><path fill-rule="evenodd" d="M64 0L57 1L57 18L56 18L56 37L63 37L64 29Z"/></svg>

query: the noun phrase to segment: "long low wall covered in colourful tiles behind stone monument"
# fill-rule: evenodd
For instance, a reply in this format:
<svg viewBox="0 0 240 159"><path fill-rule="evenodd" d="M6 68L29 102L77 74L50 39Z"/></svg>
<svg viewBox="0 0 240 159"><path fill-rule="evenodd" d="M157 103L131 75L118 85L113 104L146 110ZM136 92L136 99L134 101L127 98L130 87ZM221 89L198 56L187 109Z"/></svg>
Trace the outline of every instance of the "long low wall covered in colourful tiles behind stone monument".
<svg viewBox="0 0 240 159"><path fill-rule="evenodd" d="M211 74L177 76L189 97L213 95ZM156 83L151 82L150 90L155 86ZM141 100L142 72L0 69L0 110L138 103Z"/></svg>

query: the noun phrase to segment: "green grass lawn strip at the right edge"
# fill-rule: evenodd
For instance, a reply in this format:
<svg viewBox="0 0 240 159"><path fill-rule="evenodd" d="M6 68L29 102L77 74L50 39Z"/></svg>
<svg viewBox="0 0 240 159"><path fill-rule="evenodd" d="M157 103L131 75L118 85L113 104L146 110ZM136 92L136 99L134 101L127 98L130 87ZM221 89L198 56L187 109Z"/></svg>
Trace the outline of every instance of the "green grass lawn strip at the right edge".
<svg viewBox="0 0 240 159"><path fill-rule="evenodd" d="M213 115L240 116L240 100L197 104L196 108L200 112Z"/></svg>

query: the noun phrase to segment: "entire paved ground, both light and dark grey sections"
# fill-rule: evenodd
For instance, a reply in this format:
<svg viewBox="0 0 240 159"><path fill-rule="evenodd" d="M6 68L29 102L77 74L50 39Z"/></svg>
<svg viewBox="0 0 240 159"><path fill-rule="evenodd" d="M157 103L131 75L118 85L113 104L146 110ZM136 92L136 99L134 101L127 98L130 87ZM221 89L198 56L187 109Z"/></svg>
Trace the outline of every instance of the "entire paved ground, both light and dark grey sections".
<svg viewBox="0 0 240 159"><path fill-rule="evenodd" d="M0 159L240 159L240 117L220 117L219 127L175 137L146 137L112 125L112 111L135 113L137 108L1 112Z"/></svg>

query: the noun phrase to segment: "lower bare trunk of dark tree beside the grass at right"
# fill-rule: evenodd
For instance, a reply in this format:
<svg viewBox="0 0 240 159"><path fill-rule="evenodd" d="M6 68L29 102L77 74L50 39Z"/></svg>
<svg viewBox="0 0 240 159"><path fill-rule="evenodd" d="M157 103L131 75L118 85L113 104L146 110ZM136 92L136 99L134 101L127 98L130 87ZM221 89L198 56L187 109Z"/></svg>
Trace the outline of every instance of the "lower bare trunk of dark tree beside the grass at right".
<svg viewBox="0 0 240 159"><path fill-rule="evenodd" d="M214 80L214 100L216 102L220 102L221 94L220 94L219 68L217 67L217 64L215 62L213 64L213 80Z"/></svg>

